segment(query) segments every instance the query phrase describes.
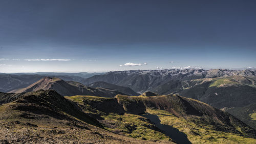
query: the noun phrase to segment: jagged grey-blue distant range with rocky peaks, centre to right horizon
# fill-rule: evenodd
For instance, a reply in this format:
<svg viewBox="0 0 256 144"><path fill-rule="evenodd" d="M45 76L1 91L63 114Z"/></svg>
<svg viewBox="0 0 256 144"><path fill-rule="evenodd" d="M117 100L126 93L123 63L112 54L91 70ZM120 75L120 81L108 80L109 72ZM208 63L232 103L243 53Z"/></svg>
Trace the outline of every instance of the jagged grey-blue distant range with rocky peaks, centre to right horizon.
<svg viewBox="0 0 256 144"><path fill-rule="evenodd" d="M129 87L137 93L145 91L154 91L157 87L169 83L169 91L176 89L176 85L184 80L192 80L199 78L215 78L233 75L255 76L256 70L133 70L133 71L114 71L103 75L94 75L81 81L83 84L91 84L97 81L104 81L116 85ZM164 92L158 92L164 94Z"/></svg>

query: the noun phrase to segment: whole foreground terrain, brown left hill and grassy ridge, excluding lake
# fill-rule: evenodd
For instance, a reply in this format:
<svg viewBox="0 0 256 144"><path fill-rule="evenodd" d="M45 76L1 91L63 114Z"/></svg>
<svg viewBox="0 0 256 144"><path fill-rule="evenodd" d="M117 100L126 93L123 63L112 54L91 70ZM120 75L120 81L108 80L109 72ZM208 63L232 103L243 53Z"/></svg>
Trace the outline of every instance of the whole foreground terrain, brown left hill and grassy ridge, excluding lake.
<svg viewBox="0 0 256 144"><path fill-rule="evenodd" d="M210 105L178 95L63 97L53 90L1 94L1 142L175 143L141 114L187 135L191 143L255 143L256 132ZM170 135L172 136L172 134Z"/></svg>

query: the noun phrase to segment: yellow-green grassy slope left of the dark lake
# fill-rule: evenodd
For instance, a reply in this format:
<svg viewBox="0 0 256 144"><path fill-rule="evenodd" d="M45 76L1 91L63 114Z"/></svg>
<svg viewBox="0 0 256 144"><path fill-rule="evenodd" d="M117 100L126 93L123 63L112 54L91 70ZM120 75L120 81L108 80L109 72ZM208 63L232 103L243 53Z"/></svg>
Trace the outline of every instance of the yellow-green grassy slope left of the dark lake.
<svg viewBox="0 0 256 144"><path fill-rule="evenodd" d="M72 96L66 98L78 102L84 111L92 111L90 112L92 117L95 115L100 116L103 119L100 122L104 127L114 133L137 139L172 142L172 139L159 132L159 130L145 118L136 114L123 113L124 111L114 108L115 104L117 107L119 106L115 98L93 96ZM108 107L109 109L101 107L96 108L110 101L115 102L112 104L114 107ZM93 103L95 104L94 106L92 106ZM99 103L99 105L97 103Z"/></svg>

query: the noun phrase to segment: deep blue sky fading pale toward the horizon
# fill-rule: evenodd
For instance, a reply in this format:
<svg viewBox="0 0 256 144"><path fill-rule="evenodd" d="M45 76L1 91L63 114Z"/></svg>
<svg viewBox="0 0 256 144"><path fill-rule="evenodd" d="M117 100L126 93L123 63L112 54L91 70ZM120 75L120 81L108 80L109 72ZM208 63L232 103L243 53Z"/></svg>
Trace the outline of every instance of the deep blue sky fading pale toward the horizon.
<svg viewBox="0 0 256 144"><path fill-rule="evenodd" d="M256 1L1 1L0 72L256 67L255 7ZM32 59L70 61L25 61ZM125 63L147 65L119 66Z"/></svg>

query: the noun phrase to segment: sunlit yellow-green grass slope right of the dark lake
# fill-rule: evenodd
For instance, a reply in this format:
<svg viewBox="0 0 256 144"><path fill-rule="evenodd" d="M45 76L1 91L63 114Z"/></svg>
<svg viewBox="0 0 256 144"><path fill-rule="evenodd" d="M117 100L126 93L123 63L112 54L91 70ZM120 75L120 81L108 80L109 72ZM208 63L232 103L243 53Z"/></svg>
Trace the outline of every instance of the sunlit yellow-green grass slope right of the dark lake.
<svg viewBox="0 0 256 144"><path fill-rule="evenodd" d="M256 139L245 138L238 134L217 131L210 125L191 122L178 118L164 110L147 109L148 113L157 114L164 125L170 125L184 132L192 143L255 143Z"/></svg>

